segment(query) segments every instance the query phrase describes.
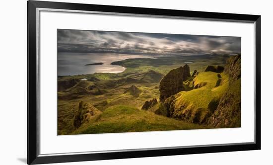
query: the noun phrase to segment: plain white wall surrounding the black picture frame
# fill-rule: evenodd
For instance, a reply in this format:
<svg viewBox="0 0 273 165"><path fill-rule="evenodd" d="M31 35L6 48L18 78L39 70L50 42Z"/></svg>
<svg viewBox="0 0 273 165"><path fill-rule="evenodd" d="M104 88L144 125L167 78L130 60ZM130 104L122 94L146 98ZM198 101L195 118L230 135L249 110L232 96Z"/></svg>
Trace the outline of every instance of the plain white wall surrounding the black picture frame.
<svg viewBox="0 0 273 165"><path fill-rule="evenodd" d="M54 0L57 1L57 0ZM262 150L95 161L93 165L273 164L272 38L270 0L58 0L262 15ZM0 164L26 163L26 0L2 0L0 9ZM244 85L244 84L242 84ZM90 162L69 163L89 165Z"/></svg>

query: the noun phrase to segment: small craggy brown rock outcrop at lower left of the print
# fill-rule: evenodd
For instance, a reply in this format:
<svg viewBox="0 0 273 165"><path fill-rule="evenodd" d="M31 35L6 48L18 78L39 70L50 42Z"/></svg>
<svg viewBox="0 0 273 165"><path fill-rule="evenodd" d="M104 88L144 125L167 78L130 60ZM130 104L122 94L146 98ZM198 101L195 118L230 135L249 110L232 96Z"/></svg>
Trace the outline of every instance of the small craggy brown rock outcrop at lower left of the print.
<svg viewBox="0 0 273 165"><path fill-rule="evenodd" d="M80 101L78 110L76 111L73 118L73 126L75 128L79 128L83 123L88 122L100 113L101 111L99 111L91 104Z"/></svg>

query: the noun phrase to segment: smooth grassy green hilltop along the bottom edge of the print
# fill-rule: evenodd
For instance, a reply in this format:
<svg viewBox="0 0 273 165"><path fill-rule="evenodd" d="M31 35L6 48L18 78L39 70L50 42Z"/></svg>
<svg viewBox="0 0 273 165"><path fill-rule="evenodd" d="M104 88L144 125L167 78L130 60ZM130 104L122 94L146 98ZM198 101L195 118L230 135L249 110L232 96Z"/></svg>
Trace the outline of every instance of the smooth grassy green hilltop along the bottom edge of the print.
<svg viewBox="0 0 273 165"><path fill-rule="evenodd" d="M178 121L135 107L116 105L107 108L96 120L83 125L72 134L116 133L203 129L204 126Z"/></svg>

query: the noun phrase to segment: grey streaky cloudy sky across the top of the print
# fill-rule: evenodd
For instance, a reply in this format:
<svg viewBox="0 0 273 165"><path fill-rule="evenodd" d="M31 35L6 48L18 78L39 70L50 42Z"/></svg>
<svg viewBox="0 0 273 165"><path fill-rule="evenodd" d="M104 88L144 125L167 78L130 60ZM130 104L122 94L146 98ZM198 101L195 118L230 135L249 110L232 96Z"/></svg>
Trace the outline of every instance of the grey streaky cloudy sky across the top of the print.
<svg viewBox="0 0 273 165"><path fill-rule="evenodd" d="M240 37L58 29L58 52L119 54L236 54Z"/></svg>

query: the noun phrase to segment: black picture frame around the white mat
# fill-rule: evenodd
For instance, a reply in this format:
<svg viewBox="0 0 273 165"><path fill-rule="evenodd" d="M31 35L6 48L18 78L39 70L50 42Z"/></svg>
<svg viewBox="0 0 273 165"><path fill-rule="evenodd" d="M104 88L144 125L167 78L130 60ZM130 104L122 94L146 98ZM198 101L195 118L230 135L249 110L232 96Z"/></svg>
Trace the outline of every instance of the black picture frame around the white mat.
<svg viewBox="0 0 273 165"><path fill-rule="evenodd" d="M219 144L215 146L173 147L168 149L149 149L138 151L117 151L104 153L79 153L72 155L39 154L39 109L38 109L38 77L37 76L37 8L68 9L79 11L101 11L153 16L171 16L181 18L198 18L204 20L224 20L237 22L253 22L255 24L255 142L250 144ZM157 8L140 8L111 5L80 4L49 1L27 1L27 164L47 164L77 161L95 161L109 159L125 159L139 157L157 157L200 153L216 153L230 151L261 149L261 16L233 13L216 13L186 11Z"/></svg>

